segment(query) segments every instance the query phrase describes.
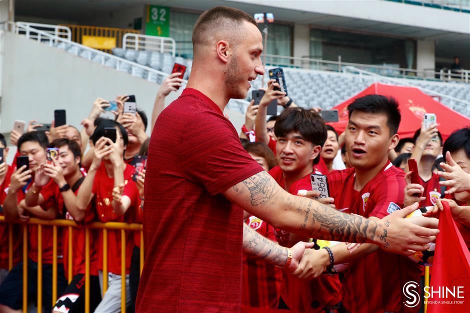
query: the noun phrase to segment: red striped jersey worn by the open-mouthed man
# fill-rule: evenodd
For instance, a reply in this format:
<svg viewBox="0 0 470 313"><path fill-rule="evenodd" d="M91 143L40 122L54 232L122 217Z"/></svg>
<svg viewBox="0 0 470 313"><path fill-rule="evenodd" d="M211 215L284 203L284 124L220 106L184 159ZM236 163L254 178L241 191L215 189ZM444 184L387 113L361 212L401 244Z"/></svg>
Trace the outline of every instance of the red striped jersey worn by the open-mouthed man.
<svg viewBox="0 0 470 313"><path fill-rule="evenodd" d="M354 190L355 170L328 175L336 208L363 217L383 218L403 205L404 172L389 161L360 191ZM419 282L421 267L405 256L381 249L349 263L342 282L342 303L349 312L415 312L403 305L402 288Z"/></svg>

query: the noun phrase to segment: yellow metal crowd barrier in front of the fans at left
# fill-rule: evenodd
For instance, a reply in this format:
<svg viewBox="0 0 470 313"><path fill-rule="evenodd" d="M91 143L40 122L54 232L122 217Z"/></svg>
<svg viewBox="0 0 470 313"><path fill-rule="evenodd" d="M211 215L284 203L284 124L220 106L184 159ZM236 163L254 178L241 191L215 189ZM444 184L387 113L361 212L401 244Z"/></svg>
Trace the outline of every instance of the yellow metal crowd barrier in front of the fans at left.
<svg viewBox="0 0 470 313"><path fill-rule="evenodd" d="M0 216L0 223L6 223L4 216ZM52 226L52 306L57 301L57 227L68 227L68 283L72 280L72 236L74 228L85 229L85 313L89 313L89 284L90 284L90 247L89 247L89 231L90 229L98 229L103 232L103 295L107 290L107 230L120 230L121 234L121 312L125 313L125 231L140 232L140 274L143 268L143 232L142 224L128 223L100 223L93 222L85 226L78 226L71 220L41 220L37 218L29 219L28 223L20 223L22 225L23 236L23 299L22 312L27 313L27 225L37 225L37 313L42 312L42 226ZM13 260L13 234L11 224L8 224L8 269L12 268ZM65 266L65 264L64 264Z"/></svg>

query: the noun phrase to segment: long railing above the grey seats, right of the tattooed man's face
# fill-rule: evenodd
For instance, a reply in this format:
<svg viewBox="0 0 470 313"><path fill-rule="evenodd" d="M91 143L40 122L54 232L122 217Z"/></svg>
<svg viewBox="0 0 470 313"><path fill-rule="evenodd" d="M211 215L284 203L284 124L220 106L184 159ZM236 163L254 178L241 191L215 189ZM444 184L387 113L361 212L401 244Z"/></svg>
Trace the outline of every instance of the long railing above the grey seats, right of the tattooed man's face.
<svg viewBox="0 0 470 313"><path fill-rule="evenodd" d="M330 70L340 72L343 66L354 66L356 68L364 69L379 75L400 77L400 78L421 78L427 80L454 80L454 81L470 81L470 70L462 69L459 72L452 72L443 69L424 69L415 70L409 68L400 68L386 65L370 65L342 62L341 56L338 56L337 61L328 61L322 59L314 59L308 57L293 57L283 55L266 54L266 65L279 65L285 67L299 67L305 69L318 69ZM438 77L438 78L435 78Z"/></svg>

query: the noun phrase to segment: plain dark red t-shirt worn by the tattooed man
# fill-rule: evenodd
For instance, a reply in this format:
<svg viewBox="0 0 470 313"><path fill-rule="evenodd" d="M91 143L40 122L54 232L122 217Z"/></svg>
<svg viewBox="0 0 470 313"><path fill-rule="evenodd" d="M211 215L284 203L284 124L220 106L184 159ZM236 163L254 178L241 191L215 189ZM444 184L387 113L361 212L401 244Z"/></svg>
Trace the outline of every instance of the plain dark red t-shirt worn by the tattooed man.
<svg viewBox="0 0 470 313"><path fill-rule="evenodd" d="M243 212L221 192L262 168L220 108L186 88L153 128L136 312L241 309Z"/></svg>

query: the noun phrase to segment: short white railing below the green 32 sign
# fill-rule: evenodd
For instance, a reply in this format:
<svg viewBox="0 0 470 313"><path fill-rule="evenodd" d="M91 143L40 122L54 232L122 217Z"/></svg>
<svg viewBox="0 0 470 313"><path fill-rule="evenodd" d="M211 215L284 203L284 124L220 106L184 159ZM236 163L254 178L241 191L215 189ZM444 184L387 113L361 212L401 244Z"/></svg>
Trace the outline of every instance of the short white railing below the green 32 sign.
<svg viewBox="0 0 470 313"><path fill-rule="evenodd" d="M169 52L176 55L176 44L173 38L126 33L122 37L122 48L133 50L149 50L160 53Z"/></svg>

